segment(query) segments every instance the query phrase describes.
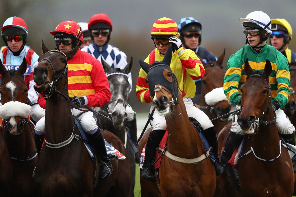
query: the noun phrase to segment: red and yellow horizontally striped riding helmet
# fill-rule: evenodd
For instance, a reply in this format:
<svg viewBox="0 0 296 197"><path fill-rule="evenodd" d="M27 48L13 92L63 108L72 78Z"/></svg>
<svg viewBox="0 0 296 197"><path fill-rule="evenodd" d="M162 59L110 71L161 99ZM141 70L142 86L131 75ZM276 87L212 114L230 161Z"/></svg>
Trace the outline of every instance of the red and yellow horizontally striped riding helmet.
<svg viewBox="0 0 296 197"><path fill-rule="evenodd" d="M160 18L153 24L151 30L152 38L170 38L172 36L180 36L177 23L170 18Z"/></svg>

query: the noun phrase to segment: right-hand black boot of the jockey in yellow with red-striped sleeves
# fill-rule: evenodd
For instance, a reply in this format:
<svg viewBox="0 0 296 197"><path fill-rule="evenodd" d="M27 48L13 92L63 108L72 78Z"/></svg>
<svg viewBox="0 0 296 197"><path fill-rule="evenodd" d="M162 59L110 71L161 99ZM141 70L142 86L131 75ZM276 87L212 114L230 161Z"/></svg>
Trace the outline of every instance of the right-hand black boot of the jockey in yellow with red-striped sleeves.
<svg viewBox="0 0 296 197"><path fill-rule="evenodd" d="M207 139L207 142L209 145L212 147L212 154L219 161L218 158L218 142L217 142L217 136L216 136L216 131L214 127L207 128L206 130L202 131L204 134L205 138ZM213 159L213 158L212 158ZM213 159L214 160L214 159ZM221 165L220 162L213 161L215 164L215 170L216 170L216 175L220 175L224 172L224 168Z"/></svg>

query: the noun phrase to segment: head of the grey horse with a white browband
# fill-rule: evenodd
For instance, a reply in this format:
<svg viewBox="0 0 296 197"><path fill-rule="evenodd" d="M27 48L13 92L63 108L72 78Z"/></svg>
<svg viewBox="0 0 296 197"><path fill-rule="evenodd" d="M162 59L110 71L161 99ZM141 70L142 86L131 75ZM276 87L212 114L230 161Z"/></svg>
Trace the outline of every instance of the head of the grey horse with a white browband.
<svg viewBox="0 0 296 197"><path fill-rule="evenodd" d="M128 74L133 66L133 58L124 69L112 69L103 58L101 58L104 71L107 73L111 99L107 104L107 111L112 118L112 123L116 127L123 126L123 121L127 118L126 105L128 104L129 91L131 85L128 82Z"/></svg>

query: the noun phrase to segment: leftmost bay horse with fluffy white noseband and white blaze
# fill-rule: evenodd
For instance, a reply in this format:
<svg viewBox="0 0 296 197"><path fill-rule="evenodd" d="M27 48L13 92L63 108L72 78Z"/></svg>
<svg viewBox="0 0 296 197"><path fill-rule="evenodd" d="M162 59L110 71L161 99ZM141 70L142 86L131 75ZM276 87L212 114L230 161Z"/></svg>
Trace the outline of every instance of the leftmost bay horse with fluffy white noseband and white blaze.
<svg viewBox="0 0 296 197"><path fill-rule="evenodd" d="M2 76L0 86L2 102L0 107L2 127L0 183L4 182L4 185L9 183L7 188L10 190L10 194L5 195L2 192L7 188L1 189L1 196L37 196L32 177L37 164L37 151L33 128L29 123L31 107L26 104L28 96L28 88L24 80L26 69L25 58L18 70L10 69L7 71L2 62L0 64ZM2 169L2 167L5 169ZM3 176L8 174L10 177L3 180Z"/></svg>

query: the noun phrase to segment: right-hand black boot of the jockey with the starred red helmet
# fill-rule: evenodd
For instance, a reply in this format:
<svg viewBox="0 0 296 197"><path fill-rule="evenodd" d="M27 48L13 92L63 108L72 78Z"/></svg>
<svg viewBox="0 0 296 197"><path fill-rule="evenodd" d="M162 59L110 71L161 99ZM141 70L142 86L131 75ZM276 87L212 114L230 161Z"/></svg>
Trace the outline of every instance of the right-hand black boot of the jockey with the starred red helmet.
<svg viewBox="0 0 296 197"><path fill-rule="evenodd" d="M98 129L96 133L89 135L89 138L94 144L94 148L96 149L96 152L102 160L99 176L101 179L104 179L111 175L113 171L113 166L111 164L109 157L107 156L103 134L101 130Z"/></svg>

